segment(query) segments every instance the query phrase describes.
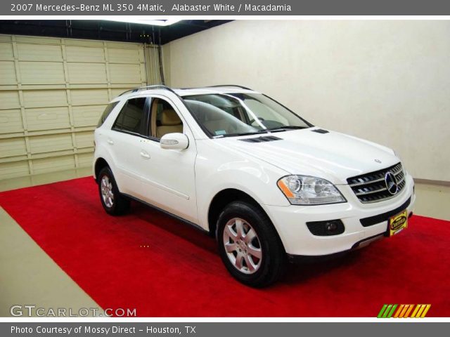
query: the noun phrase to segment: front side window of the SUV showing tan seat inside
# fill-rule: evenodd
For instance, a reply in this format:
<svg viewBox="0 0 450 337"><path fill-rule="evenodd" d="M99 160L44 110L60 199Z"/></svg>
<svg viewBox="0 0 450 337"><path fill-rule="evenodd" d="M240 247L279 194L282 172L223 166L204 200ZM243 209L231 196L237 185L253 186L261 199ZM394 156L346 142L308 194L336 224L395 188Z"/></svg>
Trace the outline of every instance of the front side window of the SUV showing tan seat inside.
<svg viewBox="0 0 450 337"><path fill-rule="evenodd" d="M153 98L148 134L153 138L160 139L166 133L183 133L183 122L167 100Z"/></svg>

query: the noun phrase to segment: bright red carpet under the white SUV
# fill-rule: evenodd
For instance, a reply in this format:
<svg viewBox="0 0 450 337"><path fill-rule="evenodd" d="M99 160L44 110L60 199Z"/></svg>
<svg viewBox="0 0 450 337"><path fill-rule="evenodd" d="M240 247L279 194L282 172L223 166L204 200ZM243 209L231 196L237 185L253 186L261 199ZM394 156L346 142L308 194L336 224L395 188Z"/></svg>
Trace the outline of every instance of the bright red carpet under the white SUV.
<svg viewBox="0 0 450 337"><path fill-rule="evenodd" d="M415 216L397 237L292 266L282 282L255 290L228 275L214 240L198 230L137 203L127 216L106 215L92 178L3 192L0 205L102 308L141 317L375 317L384 303L431 303L428 317L450 316L444 220Z"/></svg>

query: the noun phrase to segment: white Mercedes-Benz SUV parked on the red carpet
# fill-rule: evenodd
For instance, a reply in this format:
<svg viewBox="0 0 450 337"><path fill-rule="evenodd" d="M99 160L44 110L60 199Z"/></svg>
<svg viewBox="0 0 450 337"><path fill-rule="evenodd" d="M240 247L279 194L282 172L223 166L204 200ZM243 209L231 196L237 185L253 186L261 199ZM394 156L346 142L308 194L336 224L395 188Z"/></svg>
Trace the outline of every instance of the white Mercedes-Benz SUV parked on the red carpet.
<svg viewBox="0 0 450 337"><path fill-rule="evenodd" d="M242 86L127 91L106 108L95 144L106 212L135 199L209 232L250 286L276 281L288 260L400 232L415 201L389 148L313 126Z"/></svg>

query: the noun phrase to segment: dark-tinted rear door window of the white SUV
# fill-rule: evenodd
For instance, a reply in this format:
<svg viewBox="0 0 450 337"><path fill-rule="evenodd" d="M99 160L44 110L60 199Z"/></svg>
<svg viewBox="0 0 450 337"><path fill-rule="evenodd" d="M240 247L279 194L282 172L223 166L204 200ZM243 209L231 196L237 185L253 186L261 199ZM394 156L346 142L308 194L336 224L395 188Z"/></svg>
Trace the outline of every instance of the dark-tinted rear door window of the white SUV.
<svg viewBox="0 0 450 337"><path fill-rule="evenodd" d="M131 98L120 110L119 116L115 120L114 130L131 133L143 133L145 123L146 98Z"/></svg>

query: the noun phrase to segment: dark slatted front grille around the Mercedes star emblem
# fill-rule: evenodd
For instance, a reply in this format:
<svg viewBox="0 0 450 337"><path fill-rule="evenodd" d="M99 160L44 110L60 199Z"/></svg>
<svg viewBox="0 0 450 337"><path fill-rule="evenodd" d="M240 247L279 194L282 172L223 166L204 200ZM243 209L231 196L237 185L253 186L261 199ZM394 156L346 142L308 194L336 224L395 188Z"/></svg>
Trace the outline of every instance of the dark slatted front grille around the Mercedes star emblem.
<svg viewBox="0 0 450 337"><path fill-rule="evenodd" d="M394 173L395 179L397 180L398 190L394 195L390 194L386 188L385 176L389 171ZM356 197L358 197L359 201L363 204L391 199L399 194L406 184L401 163L380 171L348 178L347 183L349 183L349 186L352 188L354 194L356 194Z"/></svg>

